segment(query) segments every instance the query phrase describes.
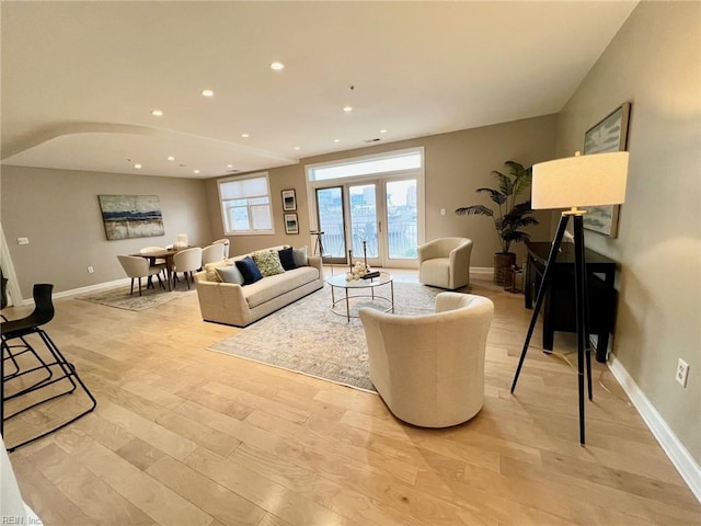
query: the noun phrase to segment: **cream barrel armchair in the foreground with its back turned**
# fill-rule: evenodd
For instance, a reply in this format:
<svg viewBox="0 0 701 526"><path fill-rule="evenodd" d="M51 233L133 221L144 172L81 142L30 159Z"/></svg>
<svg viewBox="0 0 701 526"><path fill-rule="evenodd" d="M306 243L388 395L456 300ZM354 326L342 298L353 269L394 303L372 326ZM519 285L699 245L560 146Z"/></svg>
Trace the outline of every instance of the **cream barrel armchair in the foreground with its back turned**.
<svg viewBox="0 0 701 526"><path fill-rule="evenodd" d="M494 317L489 298L440 293L435 313L359 311L370 380L390 411L422 427L474 416L484 401L484 352Z"/></svg>

